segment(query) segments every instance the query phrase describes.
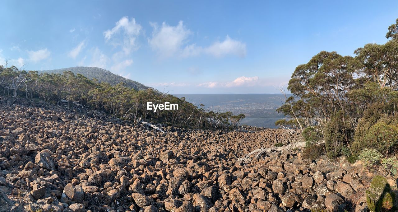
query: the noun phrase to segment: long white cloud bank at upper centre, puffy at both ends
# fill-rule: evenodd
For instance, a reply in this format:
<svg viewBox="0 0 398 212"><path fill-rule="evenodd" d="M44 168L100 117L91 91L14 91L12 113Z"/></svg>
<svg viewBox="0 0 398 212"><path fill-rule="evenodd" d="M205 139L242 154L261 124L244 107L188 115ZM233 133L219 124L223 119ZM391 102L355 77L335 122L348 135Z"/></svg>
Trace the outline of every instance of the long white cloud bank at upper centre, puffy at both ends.
<svg viewBox="0 0 398 212"><path fill-rule="evenodd" d="M207 47L198 46L195 43L185 45L189 35L191 35L191 31L183 25L182 21L179 21L177 26L169 26L165 22L160 28L156 23L151 23L151 25L154 29L152 38L148 39L148 43L162 58L173 56L195 57L201 54L208 54L214 57L224 57L226 55L246 56L246 44L231 39L228 35L224 41L216 41Z"/></svg>

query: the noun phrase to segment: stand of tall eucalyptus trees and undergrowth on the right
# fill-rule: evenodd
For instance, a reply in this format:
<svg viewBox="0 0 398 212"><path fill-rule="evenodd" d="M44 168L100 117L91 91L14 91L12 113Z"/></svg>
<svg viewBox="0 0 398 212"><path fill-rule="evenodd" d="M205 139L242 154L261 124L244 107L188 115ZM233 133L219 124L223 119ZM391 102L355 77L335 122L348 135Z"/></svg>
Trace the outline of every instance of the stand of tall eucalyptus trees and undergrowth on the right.
<svg viewBox="0 0 398 212"><path fill-rule="evenodd" d="M388 27L385 44L368 43L354 51L355 57L321 51L298 65L288 86L295 96L278 109L293 119L277 124L302 131L308 153L324 149L330 158L347 156L352 162L377 156L373 163L394 155L398 150L397 32L398 20ZM386 166L396 173L398 164L392 161Z"/></svg>

